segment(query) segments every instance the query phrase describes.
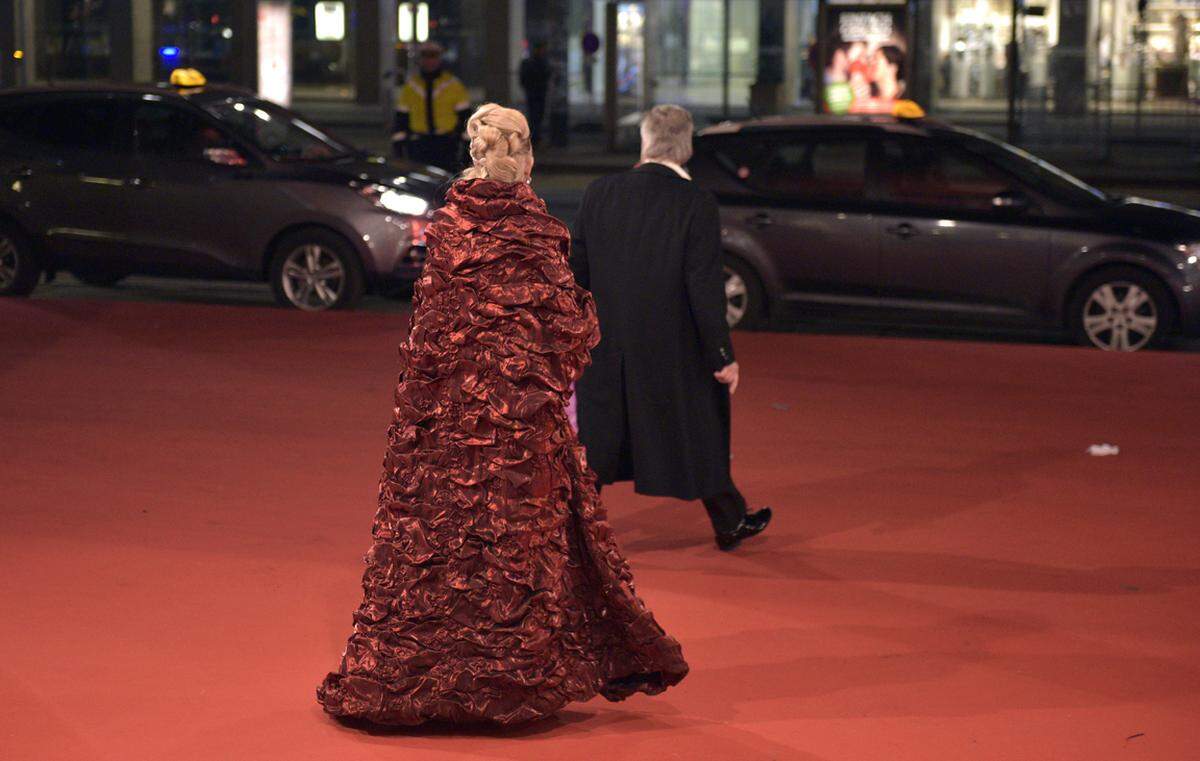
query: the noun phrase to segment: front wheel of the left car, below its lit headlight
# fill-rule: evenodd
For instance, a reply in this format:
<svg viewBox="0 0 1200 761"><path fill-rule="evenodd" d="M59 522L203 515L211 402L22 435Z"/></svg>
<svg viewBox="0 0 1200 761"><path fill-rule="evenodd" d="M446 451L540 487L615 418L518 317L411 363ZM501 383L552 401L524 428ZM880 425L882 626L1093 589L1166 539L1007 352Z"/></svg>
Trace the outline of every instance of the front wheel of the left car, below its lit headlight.
<svg viewBox="0 0 1200 761"><path fill-rule="evenodd" d="M270 278L276 301L306 312L350 308L366 290L354 248L320 228L281 238L271 254Z"/></svg>

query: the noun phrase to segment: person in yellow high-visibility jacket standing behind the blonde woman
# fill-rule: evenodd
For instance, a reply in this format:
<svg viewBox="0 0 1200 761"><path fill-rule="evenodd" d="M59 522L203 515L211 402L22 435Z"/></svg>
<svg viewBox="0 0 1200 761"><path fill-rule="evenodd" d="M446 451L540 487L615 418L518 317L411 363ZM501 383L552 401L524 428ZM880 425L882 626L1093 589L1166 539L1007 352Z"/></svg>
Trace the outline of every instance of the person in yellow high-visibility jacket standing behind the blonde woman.
<svg viewBox="0 0 1200 761"><path fill-rule="evenodd" d="M412 161L457 172L470 97L462 80L443 65L442 46L426 42L418 54L419 68L396 98L392 150Z"/></svg>

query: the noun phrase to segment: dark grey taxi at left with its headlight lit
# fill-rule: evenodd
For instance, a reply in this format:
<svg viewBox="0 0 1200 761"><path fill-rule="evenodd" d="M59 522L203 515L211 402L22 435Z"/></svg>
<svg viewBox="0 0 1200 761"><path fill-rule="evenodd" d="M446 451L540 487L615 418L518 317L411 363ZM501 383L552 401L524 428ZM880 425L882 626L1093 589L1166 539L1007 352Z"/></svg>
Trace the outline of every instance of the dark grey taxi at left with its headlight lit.
<svg viewBox="0 0 1200 761"><path fill-rule="evenodd" d="M65 269L269 280L302 310L412 281L440 169L230 88L0 92L0 295Z"/></svg>

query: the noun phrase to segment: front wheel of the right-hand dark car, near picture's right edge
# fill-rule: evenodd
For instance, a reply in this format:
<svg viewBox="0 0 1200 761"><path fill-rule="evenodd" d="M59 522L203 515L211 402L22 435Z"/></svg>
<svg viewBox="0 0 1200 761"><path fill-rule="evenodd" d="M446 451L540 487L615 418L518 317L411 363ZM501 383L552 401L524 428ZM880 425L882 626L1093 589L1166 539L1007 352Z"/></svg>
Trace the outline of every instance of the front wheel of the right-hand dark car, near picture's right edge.
<svg viewBox="0 0 1200 761"><path fill-rule="evenodd" d="M1075 341L1108 352L1162 346L1175 326L1175 304L1162 281L1135 266L1114 266L1075 286L1067 318Z"/></svg>

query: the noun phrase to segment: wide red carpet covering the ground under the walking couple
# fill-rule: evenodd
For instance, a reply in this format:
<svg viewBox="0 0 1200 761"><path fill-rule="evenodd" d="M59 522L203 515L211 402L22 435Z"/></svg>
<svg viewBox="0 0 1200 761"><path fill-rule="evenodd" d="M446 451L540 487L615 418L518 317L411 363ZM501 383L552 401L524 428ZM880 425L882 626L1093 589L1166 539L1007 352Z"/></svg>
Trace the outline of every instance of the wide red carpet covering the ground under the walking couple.
<svg viewBox="0 0 1200 761"><path fill-rule="evenodd" d="M0 757L1200 754L1200 356L802 335L737 337L764 538L605 492L682 685L514 735L326 719L402 322L0 302Z"/></svg>

